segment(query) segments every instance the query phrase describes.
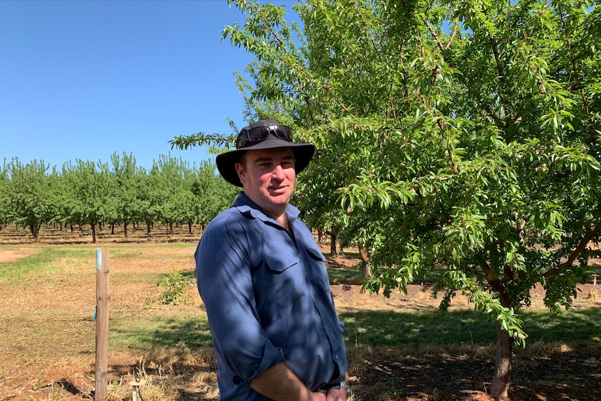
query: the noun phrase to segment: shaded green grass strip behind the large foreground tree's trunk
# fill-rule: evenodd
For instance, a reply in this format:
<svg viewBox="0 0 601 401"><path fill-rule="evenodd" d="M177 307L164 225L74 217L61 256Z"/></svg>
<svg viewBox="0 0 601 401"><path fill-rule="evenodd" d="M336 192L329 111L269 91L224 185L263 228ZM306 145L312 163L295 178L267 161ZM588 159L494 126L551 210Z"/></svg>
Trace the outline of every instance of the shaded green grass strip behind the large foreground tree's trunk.
<svg viewBox="0 0 601 401"><path fill-rule="evenodd" d="M600 342L601 310L586 308L549 312L519 312L528 334L527 343ZM406 345L493 345L496 325L471 310L450 312L343 313L344 336L349 346L402 347Z"/></svg>

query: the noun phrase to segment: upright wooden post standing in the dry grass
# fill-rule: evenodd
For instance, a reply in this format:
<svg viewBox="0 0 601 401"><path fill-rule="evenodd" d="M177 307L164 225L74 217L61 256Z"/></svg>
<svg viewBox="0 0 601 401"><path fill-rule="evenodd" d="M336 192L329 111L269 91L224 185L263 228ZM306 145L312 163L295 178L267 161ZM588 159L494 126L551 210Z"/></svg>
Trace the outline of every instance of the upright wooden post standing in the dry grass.
<svg viewBox="0 0 601 401"><path fill-rule="evenodd" d="M96 388L95 401L108 398L109 250L96 248Z"/></svg>

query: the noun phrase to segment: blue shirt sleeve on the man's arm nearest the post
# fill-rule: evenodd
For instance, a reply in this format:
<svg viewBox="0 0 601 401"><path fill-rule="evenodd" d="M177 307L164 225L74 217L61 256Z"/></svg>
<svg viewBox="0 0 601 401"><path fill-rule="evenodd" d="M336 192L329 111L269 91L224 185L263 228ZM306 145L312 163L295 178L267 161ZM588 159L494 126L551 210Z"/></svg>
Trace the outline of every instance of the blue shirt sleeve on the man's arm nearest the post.
<svg viewBox="0 0 601 401"><path fill-rule="evenodd" d="M255 249L260 248L256 242L262 239L231 216L214 222L195 253L197 285L218 361L225 363L220 368L229 370L230 386L247 384L284 361L282 349L261 328L254 306L250 246L254 243Z"/></svg>

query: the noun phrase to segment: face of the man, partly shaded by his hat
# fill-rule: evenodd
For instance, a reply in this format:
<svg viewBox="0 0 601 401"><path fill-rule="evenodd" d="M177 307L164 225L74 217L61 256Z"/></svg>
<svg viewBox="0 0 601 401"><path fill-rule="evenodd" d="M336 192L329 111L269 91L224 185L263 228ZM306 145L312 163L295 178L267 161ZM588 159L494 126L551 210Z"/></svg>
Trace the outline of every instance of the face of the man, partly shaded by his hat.
<svg viewBox="0 0 601 401"><path fill-rule="evenodd" d="M267 214L279 216L294 193L296 172L291 148L247 151L236 164L244 193Z"/></svg>

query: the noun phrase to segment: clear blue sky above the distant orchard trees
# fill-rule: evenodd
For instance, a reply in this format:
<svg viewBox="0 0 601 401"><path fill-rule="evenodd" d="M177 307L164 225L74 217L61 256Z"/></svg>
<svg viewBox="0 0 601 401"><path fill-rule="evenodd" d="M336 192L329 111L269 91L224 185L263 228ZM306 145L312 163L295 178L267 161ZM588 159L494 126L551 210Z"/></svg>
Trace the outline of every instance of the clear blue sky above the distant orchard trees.
<svg viewBox="0 0 601 401"><path fill-rule="evenodd" d="M251 56L221 40L234 22L225 0L0 1L0 167L213 158L168 141L245 126L233 73Z"/></svg>

